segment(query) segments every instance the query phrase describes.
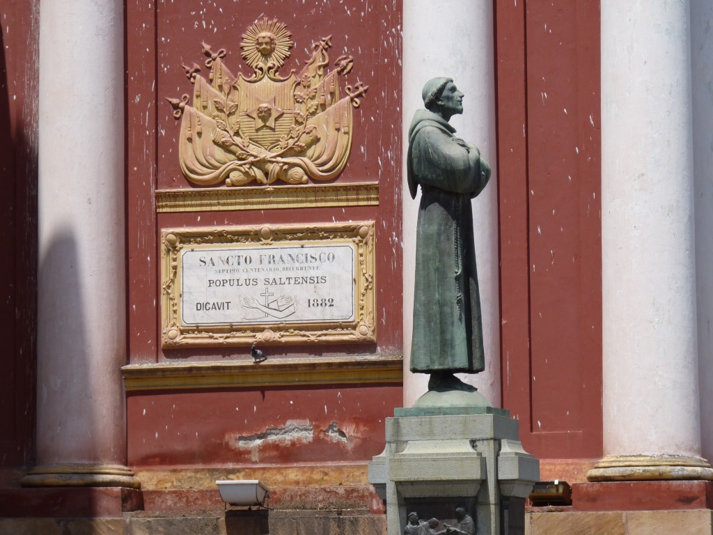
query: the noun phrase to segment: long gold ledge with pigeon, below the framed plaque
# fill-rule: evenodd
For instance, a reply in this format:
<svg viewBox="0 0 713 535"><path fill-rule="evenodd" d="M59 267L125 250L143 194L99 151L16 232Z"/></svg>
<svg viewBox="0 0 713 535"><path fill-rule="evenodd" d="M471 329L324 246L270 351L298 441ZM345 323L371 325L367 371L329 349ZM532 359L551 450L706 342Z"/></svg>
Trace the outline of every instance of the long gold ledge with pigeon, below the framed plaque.
<svg viewBox="0 0 713 535"><path fill-rule="evenodd" d="M394 357L319 360L276 358L250 362L179 362L121 368L127 392L161 389L289 387L307 384L383 384L404 380L404 361Z"/></svg>

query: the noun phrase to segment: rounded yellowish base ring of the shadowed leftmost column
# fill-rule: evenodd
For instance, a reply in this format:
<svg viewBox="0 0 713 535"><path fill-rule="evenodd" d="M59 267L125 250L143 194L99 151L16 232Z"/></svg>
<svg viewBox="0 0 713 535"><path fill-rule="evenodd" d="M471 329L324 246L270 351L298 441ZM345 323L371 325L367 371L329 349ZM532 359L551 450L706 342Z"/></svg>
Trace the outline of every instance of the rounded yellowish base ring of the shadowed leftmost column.
<svg viewBox="0 0 713 535"><path fill-rule="evenodd" d="M43 464L21 480L22 486L121 486L140 489L139 481L120 464Z"/></svg>

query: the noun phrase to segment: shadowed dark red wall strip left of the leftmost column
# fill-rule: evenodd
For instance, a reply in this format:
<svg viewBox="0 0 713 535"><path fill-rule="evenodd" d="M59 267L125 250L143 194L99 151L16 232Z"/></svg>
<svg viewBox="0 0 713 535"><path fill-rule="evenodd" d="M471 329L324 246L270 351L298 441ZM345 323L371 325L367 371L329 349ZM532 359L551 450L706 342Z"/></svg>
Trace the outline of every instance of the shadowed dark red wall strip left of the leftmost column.
<svg viewBox="0 0 713 535"><path fill-rule="evenodd" d="M1 10L0 471L34 459L38 11L36 0Z"/></svg>

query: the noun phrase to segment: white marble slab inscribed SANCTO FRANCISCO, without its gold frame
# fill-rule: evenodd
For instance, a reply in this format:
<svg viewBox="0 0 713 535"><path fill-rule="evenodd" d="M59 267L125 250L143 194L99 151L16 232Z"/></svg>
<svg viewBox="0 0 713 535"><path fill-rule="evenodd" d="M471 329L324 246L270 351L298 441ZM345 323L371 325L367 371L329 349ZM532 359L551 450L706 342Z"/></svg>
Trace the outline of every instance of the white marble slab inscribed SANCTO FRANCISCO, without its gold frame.
<svg viewBox="0 0 713 535"><path fill-rule="evenodd" d="M354 320L354 243L184 250L182 325Z"/></svg>

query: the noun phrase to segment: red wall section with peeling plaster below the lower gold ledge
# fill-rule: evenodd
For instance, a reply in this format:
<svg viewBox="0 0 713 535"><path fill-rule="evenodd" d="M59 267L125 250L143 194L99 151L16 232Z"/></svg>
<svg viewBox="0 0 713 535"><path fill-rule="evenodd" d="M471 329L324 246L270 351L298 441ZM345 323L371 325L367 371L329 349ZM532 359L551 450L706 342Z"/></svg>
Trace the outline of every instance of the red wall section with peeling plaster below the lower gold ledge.
<svg viewBox="0 0 713 535"><path fill-rule="evenodd" d="M363 462L384 449L400 385L165 391L128 397L128 462Z"/></svg>

